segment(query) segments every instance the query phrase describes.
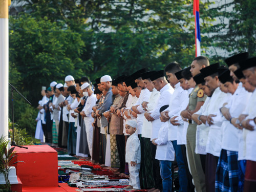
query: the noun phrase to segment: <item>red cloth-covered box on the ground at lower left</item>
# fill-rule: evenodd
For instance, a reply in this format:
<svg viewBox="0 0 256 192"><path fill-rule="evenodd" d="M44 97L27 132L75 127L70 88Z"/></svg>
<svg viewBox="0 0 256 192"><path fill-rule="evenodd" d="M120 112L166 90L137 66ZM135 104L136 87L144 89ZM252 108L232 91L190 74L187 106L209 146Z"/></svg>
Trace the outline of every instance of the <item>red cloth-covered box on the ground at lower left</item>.
<svg viewBox="0 0 256 192"><path fill-rule="evenodd" d="M58 156L49 145L15 147L16 174L24 186L58 186Z"/></svg>

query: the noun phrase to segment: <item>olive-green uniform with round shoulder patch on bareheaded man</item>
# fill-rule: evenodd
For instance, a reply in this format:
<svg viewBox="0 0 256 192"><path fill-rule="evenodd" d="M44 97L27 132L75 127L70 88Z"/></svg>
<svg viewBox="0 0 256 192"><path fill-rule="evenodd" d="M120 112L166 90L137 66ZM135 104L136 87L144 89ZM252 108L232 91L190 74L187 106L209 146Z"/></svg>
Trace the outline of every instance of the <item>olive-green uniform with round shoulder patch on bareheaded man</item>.
<svg viewBox="0 0 256 192"><path fill-rule="evenodd" d="M206 95L196 86L189 95L188 110L196 109L199 101L205 101ZM190 165L191 175L197 192L205 191L205 176L201 165L200 155L195 153L197 124L189 121L187 129L187 155Z"/></svg>

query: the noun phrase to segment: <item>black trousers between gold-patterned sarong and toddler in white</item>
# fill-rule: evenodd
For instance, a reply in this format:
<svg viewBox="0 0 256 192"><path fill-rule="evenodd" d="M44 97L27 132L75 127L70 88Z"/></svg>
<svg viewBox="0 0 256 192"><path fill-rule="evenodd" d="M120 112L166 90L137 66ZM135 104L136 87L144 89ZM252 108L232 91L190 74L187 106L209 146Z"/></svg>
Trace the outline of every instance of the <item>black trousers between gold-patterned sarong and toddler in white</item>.
<svg viewBox="0 0 256 192"><path fill-rule="evenodd" d="M116 135L116 145L120 159L120 173L124 173L125 168L125 137L124 135Z"/></svg>

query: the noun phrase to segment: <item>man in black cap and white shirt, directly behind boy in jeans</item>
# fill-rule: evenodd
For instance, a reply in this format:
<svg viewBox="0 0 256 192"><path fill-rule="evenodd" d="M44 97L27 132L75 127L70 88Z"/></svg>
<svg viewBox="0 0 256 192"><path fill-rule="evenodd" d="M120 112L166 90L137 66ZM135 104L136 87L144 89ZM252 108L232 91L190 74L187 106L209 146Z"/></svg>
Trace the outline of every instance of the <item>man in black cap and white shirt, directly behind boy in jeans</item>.
<svg viewBox="0 0 256 192"><path fill-rule="evenodd" d="M169 99L172 96L174 89L170 86L165 78L164 70L157 71L150 76L151 81L157 91L160 92L160 97L157 100L157 104L154 110L145 113L145 118L152 122L152 133L151 140L158 135L159 129L163 122L160 121L160 108L163 105L169 104ZM152 161L153 161L153 174L155 181L155 188L162 189L162 179L160 176L159 160L155 159L156 156L156 145L152 144Z"/></svg>

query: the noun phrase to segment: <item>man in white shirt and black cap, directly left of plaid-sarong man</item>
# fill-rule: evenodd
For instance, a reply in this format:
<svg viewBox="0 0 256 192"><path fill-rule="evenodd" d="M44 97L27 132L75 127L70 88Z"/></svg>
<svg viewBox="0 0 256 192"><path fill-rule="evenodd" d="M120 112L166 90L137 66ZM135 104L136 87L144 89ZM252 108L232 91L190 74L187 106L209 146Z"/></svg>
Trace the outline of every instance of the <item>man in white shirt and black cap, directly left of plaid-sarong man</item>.
<svg viewBox="0 0 256 192"><path fill-rule="evenodd" d="M218 159L220 156L222 123L217 124L214 117L217 118L216 116L218 115L219 108L223 105L224 100L226 98L226 94L221 92L218 86L218 69L219 63L215 63L200 70L202 76L204 77L205 85L208 86L211 91L213 91L206 113L207 123L209 124L209 133L206 144L205 159L206 191L215 191L215 173L218 164ZM201 118L203 117L201 116Z"/></svg>

